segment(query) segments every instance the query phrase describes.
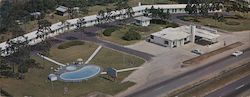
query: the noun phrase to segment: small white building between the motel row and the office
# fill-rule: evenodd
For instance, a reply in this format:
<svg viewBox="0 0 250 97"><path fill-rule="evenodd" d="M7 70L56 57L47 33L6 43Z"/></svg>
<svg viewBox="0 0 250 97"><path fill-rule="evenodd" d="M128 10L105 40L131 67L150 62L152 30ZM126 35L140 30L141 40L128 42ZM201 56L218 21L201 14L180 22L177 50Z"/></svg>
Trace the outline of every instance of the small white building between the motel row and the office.
<svg viewBox="0 0 250 97"><path fill-rule="evenodd" d="M151 18L148 18L145 16L136 17L135 24L140 25L140 26L148 26L148 25L150 25L150 20L151 20Z"/></svg>

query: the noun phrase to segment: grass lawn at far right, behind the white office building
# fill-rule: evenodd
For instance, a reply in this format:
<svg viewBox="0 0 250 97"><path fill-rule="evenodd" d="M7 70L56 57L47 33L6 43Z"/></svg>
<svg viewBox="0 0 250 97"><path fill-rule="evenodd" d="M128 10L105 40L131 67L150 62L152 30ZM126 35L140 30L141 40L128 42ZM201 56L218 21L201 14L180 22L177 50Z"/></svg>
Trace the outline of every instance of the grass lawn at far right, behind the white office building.
<svg viewBox="0 0 250 97"><path fill-rule="evenodd" d="M250 30L250 14L236 13L235 16L225 17L223 22L218 22L211 17L185 16L180 17L180 19L226 31Z"/></svg>

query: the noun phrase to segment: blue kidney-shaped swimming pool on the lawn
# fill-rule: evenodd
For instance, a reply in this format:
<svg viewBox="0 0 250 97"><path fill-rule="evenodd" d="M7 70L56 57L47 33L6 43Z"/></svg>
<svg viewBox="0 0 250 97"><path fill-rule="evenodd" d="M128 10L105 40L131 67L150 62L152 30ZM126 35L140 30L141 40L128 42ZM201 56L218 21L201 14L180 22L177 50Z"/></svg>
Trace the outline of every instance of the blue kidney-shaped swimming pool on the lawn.
<svg viewBox="0 0 250 97"><path fill-rule="evenodd" d="M99 66L87 65L76 71L62 73L60 78L66 82L79 82L96 76L100 71Z"/></svg>

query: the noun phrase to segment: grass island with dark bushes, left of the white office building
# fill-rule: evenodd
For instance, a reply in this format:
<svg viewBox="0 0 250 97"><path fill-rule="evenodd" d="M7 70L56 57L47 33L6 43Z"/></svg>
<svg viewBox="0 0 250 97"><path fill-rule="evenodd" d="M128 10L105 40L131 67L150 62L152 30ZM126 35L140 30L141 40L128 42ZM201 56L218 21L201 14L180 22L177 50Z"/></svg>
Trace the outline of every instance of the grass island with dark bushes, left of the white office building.
<svg viewBox="0 0 250 97"><path fill-rule="evenodd" d="M114 31L111 36L104 36L101 35L101 38L120 44L120 45L130 45L134 44L138 41L146 39L147 36L149 36L151 33L160 31L163 29L166 25L158 25L158 24L150 24L148 27L142 27L137 25L124 25L119 27L116 31ZM138 32L141 36L141 40L132 40L132 41L126 41L122 39L125 33L129 31L129 29L134 29L136 32Z"/></svg>

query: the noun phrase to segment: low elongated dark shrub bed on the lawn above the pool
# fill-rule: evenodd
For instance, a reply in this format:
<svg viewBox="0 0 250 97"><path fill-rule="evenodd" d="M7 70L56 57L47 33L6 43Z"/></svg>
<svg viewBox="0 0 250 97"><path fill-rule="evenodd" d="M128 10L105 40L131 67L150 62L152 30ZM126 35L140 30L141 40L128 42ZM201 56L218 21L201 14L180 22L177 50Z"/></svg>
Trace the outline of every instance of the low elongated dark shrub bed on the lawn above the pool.
<svg viewBox="0 0 250 97"><path fill-rule="evenodd" d="M66 49L66 48L77 46L77 45L84 45L84 42L83 41L70 41L70 42L66 42L66 43L59 45L57 48Z"/></svg>

